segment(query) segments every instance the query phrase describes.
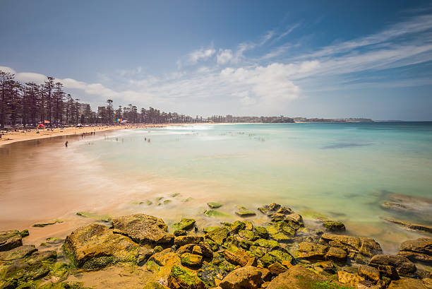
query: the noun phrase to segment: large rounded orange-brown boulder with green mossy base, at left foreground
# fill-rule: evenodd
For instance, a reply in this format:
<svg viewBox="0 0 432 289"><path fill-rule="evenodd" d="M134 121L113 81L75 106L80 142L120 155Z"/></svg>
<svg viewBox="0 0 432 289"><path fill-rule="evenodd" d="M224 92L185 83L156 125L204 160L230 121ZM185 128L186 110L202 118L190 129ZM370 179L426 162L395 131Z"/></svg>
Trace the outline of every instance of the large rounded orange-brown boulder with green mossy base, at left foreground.
<svg viewBox="0 0 432 289"><path fill-rule="evenodd" d="M113 234L104 225L78 228L66 237L63 249L71 263L86 271L98 270L116 262L136 262L138 244Z"/></svg>

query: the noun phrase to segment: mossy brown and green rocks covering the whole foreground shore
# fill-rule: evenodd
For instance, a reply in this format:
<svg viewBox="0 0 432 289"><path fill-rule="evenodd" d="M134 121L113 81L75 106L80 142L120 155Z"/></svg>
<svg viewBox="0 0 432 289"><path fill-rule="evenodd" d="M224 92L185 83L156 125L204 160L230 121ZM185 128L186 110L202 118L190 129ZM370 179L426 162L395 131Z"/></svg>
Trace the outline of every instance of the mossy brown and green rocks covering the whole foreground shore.
<svg viewBox="0 0 432 289"><path fill-rule="evenodd" d="M208 215L219 205L209 203ZM344 235L343 223L324 220L316 230L279 204L258 210L265 225L241 206L239 220L205 228L191 218L169 228L145 214L101 220L47 240L61 242L59 250L23 245L28 231L0 232L0 288L88 288L69 277L110 266L150 271L145 289L432 288L431 238L387 255L371 238Z"/></svg>

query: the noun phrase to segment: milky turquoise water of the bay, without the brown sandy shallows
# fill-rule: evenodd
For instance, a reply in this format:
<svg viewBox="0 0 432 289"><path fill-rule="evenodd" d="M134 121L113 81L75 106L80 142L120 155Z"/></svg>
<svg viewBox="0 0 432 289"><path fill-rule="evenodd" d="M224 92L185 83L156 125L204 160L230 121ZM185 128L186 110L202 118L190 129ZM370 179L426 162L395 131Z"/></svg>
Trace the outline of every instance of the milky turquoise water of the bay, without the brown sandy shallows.
<svg viewBox="0 0 432 289"><path fill-rule="evenodd" d="M432 195L428 122L170 126L116 131L83 151L129 182L199 183L209 199L280 201L357 223L387 216L388 192Z"/></svg>

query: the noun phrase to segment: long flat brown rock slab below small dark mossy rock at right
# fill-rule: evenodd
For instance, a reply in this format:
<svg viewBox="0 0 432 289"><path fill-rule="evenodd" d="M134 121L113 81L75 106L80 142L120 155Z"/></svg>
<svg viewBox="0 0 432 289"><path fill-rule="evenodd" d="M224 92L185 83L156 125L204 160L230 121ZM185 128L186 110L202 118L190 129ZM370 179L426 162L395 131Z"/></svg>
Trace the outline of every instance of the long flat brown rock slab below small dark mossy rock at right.
<svg viewBox="0 0 432 289"><path fill-rule="evenodd" d="M368 237L352 237L324 233L321 235L320 243L330 244L332 247L340 247L347 252L361 253L365 256L373 256L383 252L380 244Z"/></svg>

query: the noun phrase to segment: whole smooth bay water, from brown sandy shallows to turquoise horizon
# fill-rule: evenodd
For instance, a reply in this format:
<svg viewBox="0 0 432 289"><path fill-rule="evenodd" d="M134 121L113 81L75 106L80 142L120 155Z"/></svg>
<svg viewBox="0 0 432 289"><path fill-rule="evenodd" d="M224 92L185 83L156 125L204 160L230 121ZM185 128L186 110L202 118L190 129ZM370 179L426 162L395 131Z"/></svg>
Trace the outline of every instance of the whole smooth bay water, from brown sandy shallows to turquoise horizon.
<svg viewBox="0 0 432 289"><path fill-rule="evenodd" d="M381 217L432 221L429 207L414 215L380 208L393 193L432 197L432 123L172 126L69 137L68 148L65 139L0 148L0 230L60 218L32 228L28 242L61 237L90 222L76 211L142 212L168 223L193 216L202 226L216 222L202 214L208 201L232 215L237 204L275 201L341 220L349 234L397 252L421 234Z"/></svg>

